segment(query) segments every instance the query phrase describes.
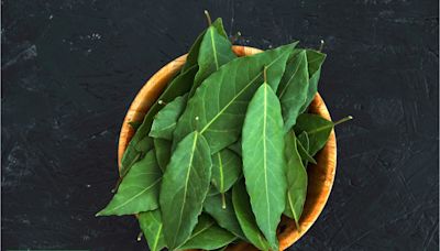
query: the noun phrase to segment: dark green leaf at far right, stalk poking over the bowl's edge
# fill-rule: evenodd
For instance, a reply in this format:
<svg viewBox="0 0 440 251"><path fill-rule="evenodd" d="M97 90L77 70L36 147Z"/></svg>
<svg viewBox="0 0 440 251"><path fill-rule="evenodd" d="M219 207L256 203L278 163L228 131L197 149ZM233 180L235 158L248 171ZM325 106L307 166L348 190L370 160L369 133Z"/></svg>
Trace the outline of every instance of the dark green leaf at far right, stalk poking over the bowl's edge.
<svg viewBox="0 0 440 251"><path fill-rule="evenodd" d="M318 114L302 113L298 117L295 126L295 132L307 132L309 137L309 155L315 156L321 150L329 139L334 123L328 121Z"/></svg>

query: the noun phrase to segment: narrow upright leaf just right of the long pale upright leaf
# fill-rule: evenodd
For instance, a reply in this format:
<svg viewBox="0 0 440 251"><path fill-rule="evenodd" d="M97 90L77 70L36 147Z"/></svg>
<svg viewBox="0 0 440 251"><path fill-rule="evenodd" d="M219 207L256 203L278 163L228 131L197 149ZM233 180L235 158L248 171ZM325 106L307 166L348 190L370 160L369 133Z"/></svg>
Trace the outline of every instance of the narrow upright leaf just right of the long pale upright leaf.
<svg viewBox="0 0 440 251"><path fill-rule="evenodd" d="M293 218L299 229L299 218L307 196L307 172L298 153L295 132L285 135L284 153L287 160L287 204L284 214Z"/></svg>

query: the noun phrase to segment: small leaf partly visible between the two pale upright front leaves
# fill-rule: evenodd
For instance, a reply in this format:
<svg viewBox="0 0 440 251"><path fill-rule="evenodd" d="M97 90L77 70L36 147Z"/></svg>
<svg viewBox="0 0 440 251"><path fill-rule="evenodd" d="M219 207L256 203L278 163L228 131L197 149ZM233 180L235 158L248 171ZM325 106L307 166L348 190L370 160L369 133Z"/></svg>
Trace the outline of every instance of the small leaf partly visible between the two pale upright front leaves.
<svg viewBox="0 0 440 251"><path fill-rule="evenodd" d="M231 150L223 149L212 155L212 184L220 193L226 193L239 179L241 159Z"/></svg>

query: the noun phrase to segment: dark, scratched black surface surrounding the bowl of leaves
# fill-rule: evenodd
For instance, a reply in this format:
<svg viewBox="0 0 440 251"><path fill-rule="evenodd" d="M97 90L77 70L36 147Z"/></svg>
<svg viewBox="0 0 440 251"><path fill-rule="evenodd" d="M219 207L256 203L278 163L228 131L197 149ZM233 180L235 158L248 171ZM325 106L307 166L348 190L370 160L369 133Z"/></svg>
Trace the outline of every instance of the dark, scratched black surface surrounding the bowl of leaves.
<svg viewBox="0 0 440 251"><path fill-rule="evenodd" d="M133 217L95 218L121 122L152 74L222 17L239 44L300 40L328 59L329 203L290 250L438 250L438 1L3 0L2 250L147 250Z"/></svg>

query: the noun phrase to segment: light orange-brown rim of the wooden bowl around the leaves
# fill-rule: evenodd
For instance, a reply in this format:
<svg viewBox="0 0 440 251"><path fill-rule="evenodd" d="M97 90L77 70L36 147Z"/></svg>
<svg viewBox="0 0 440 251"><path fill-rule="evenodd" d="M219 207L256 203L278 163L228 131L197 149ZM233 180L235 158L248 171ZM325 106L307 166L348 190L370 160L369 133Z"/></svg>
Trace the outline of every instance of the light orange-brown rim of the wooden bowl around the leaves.
<svg viewBox="0 0 440 251"><path fill-rule="evenodd" d="M240 46L234 45L233 47L234 53L238 56L248 56L253 55L256 53L262 52L262 50L250 47L250 46ZM142 121L145 113L150 109L150 107L156 101L158 96L161 95L163 88L165 88L166 84L178 73L182 66L186 62L186 56L182 55L176 59L169 62L160 70L157 70L141 88L138 92L135 98L133 99L125 118L123 120L121 132L119 137L119 144L118 144L118 166L120 168L122 155L127 150L127 146L134 134L134 130L129 126L131 121ZM324 101L322 100L319 94L316 95L312 103L310 105L310 109L314 113L318 113L324 119L331 120L330 112L326 107ZM330 192L334 182L336 175L336 166L337 166L337 144L336 144L336 134L334 130L331 131L329 141L327 142L326 146L318 153L318 165L326 161L326 174L322 179L322 186L326 186L322 192L319 194L319 198L317 199L317 204L311 208L307 220L304 220L301 216L301 220L299 222L300 231L296 230L295 226L289 226L287 231L282 232L278 234L279 240L279 250L287 249L292 244L294 244L300 237L302 237L310 227L315 223L318 219L319 215L322 212L327 200L330 196ZM324 160L321 160L324 155ZM308 196L309 197L309 196ZM306 199L307 203L307 199ZM292 220L289 225L295 225ZM231 250L249 250L249 244L244 242L238 244L235 248Z"/></svg>

